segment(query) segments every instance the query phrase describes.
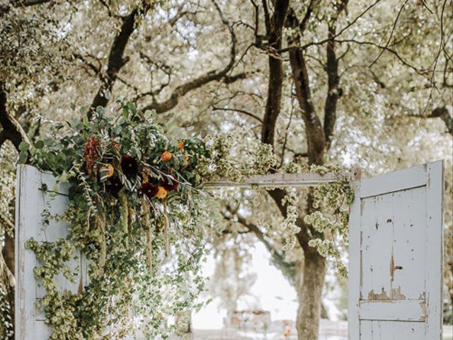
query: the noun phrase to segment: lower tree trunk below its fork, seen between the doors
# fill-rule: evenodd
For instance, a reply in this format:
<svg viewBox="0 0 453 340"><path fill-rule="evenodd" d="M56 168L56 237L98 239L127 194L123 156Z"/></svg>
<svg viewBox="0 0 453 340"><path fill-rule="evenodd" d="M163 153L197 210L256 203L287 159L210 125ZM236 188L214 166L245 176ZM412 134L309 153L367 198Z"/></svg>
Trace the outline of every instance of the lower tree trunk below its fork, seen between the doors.
<svg viewBox="0 0 453 340"><path fill-rule="evenodd" d="M299 340L318 339L321 294L326 274L326 259L318 253L306 254L304 273L299 285L299 310L296 327Z"/></svg>

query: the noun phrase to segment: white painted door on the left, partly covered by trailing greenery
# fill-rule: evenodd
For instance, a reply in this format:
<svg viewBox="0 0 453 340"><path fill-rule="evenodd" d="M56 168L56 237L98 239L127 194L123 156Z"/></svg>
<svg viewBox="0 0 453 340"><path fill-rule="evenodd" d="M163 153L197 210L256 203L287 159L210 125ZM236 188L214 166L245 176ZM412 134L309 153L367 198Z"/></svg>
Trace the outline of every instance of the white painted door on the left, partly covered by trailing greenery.
<svg viewBox="0 0 453 340"><path fill-rule="evenodd" d="M55 177L42 173L33 166L18 166L17 175L16 340L45 340L49 338L51 329L45 323L42 309L35 307L36 300L43 297L45 291L38 280L35 280L33 268L38 263L33 251L25 249L25 242L31 237L38 242L53 242L67 235L67 225L63 222L50 219L47 227L42 225L42 213L46 208L52 215L66 211L69 203L67 187L62 186L55 192ZM43 188L47 188L47 191ZM63 276L57 278L60 291L76 293L79 287L86 285L86 263L81 261L68 263L76 274L76 283L70 283Z"/></svg>

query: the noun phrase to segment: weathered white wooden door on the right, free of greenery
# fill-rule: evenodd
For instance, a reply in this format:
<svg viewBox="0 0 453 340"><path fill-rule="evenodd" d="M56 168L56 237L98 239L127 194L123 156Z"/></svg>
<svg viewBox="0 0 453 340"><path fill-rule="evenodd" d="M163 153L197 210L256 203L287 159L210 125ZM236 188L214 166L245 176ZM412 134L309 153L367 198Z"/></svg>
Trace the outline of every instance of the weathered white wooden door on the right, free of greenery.
<svg viewBox="0 0 453 340"><path fill-rule="evenodd" d="M355 182L349 339L442 337L442 162Z"/></svg>

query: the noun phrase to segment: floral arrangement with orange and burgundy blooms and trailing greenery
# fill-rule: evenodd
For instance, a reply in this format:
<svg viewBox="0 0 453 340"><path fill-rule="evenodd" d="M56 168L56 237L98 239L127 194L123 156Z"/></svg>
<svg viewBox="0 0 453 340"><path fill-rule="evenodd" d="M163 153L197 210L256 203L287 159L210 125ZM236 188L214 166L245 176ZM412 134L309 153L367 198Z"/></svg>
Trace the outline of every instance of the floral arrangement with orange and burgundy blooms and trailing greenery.
<svg viewBox="0 0 453 340"><path fill-rule="evenodd" d="M155 113L117 104L116 117L98 107L91 120L59 126L69 129L63 137L21 145L20 162L30 159L69 183L67 212L42 218L44 227L67 221L68 237L26 244L42 263L35 276L47 295L38 307L52 326L50 339L125 339L137 331L165 338L173 331L169 317L201 307L197 186L215 169L212 150L196 134L169 139L151 123ZM90 282L59 293L58 275L74 280L66 263L76 249L90 263Z"/></svg>

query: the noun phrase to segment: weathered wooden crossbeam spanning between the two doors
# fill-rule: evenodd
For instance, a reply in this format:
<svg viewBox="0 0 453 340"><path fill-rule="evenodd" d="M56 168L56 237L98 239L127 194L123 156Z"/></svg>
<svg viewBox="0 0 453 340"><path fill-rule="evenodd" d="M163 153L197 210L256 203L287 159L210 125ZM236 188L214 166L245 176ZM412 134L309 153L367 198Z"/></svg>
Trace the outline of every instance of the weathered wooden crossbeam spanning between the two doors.
<svg viewBox="0 0 453 340"><path fill-rule="evenodd" d="M353 181L355 179L355 174L345 173L342 177L348 179L348 181ZM338 174L332 172L323 175L315 172L253 175L245 177L240 182L222 179L212 183L206 183L205 188L250 188L252 186L258 186L260 188L280 188L288 186L316 186L326 182L336 182L338 180Z"/></svg>

